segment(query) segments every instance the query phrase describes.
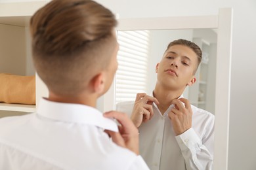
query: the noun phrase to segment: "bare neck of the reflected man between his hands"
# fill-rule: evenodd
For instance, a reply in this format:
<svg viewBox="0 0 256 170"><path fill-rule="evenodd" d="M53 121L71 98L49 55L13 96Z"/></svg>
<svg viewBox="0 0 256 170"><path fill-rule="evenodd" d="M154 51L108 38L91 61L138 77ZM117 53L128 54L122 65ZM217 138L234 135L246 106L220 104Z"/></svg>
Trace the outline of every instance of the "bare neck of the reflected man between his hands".
<svg viewBox="0 0 256 170"><path fill-rule="evenodd" d="M160 110L161 114L164 114L164 112L169 108L171 105L171 101L173 99L178 99L184 90L171 90L166 89L158 84L156 84L156 88L154 89L153 95L158 99L159 105L158 109Z"/></svg>

